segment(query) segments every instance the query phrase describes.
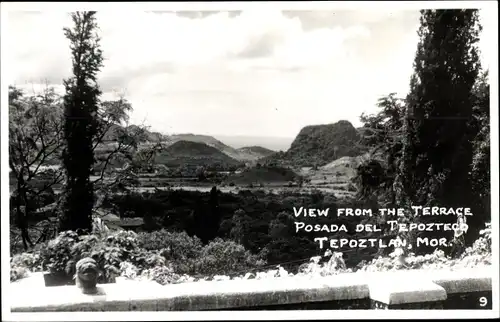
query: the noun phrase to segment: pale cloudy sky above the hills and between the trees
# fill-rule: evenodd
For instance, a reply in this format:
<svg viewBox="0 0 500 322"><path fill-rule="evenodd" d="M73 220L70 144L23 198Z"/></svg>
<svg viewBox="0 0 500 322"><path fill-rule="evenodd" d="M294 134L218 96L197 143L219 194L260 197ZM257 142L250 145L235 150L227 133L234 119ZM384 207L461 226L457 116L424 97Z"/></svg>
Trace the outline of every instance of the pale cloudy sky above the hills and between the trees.
<svg viewBox="0 0 500 322"><path fill-rule="evenodd" d="M404 96L418 10L98 11L102 99L124 93L131 122L171 133L294 138L307 125L360 126L377 99ZM481 12L483 65L494 15ZM10 84L70 76L61 11L9 12ZM486 40L485 40L486 39Z"/></svg>

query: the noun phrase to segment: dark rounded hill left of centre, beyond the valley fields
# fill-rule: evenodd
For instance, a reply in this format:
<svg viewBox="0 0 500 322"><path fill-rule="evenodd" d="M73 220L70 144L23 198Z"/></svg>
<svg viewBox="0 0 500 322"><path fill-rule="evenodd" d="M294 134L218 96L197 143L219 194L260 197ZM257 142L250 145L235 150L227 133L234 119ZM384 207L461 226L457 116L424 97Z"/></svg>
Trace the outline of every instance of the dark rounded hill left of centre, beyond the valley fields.
<svg viewBox="0 0 500 322"><path fill-rule="evenodd" d="M237 168L242 164L217 148L205 143L177 141L156 155L155 162L167 167L198 167L207 169Z"/></svg>

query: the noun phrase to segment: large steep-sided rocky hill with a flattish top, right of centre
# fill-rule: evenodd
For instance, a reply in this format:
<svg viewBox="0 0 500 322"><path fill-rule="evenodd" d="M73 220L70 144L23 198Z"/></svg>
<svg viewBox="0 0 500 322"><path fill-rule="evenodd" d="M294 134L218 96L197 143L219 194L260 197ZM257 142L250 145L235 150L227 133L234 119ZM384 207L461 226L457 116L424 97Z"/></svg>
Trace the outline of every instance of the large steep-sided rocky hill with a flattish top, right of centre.
<svg viewBox="0 0 500 322"><path fill-rule="evenodd" d="M360 133L348 121L310 125L300 130L288 151L264 161L294 167L323 166L342 157L363 154L366 149L359 145L360 139Z"/></svg>

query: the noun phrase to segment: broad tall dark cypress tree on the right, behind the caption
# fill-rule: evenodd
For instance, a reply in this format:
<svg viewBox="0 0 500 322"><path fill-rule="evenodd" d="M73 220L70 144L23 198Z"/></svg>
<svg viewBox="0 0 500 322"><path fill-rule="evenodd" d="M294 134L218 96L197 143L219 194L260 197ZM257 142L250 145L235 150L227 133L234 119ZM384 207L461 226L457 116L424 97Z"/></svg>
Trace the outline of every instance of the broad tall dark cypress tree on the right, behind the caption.
<svg viewBox="0 0 500 322"><path fill-rule="evenodd" d="M399 173L410 205L471 207L473 86L480 72L478 11L422 10ZM454 216L417 218L455 222ZM468 218L469 219L469 218ZM469 222L468 222L469 223ZM441 237L442 231L426 233ZM422 248L422 251L430 249Z"/></svg>

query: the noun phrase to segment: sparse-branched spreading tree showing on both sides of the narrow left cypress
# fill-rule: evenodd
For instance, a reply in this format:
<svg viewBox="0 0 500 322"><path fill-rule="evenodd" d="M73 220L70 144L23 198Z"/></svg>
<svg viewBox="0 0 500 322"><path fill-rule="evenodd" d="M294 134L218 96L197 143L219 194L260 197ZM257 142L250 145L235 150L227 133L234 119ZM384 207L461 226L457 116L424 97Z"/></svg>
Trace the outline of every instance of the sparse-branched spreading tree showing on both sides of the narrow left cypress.
<svg viewBox="0 0 500 322"><path fill-rule="evenodd" d="M99 134L93 138L93 150L98 155L94 163L97 175L92 183L94 194L100 197L127 191L128 187L137 184L133 168L126 162L144 143L147 130L145 126L128 126L126 122L131 111L130 103L124 98L105 101L99 106ZM60 167L63 128L62 98L53 87L47 85L39 93L9 87L13 245L17 245L15 239L20 237L24 249L28 249L50 238L55 231L50 218L57 216L61 198L55 192L65 179L64 169ZM141 151L154 151L161 142L148 141L145 145L147 147ZM149 160L144 159L144 162ZM98 207L97 201L94 209Z"/></svg>

